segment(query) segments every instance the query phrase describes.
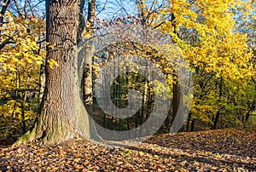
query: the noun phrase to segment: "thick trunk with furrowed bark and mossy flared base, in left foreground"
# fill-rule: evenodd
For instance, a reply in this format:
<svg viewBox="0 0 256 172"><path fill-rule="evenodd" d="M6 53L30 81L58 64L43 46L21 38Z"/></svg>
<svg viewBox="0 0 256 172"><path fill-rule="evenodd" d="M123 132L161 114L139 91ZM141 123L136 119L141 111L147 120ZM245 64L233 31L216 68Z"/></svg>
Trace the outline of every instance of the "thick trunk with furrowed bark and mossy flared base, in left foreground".
<svg viewBox="0 0 256 172"><path fill-rule="evenodd" d="M45 92L34 128L16 142L39 139L57 144L74 137L90 138L90 119L79 88L77 32L79 4L74 0L46 1L47 60L58 66L46 66Z"/></svg>

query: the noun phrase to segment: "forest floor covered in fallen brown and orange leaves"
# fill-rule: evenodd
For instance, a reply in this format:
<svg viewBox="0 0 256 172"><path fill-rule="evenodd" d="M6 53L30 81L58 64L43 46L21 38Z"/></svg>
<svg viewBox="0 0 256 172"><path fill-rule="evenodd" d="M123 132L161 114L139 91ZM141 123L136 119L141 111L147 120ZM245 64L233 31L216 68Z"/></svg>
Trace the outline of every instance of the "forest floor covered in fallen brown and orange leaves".
<svg viewBox="0 0 256 172"><path fill-rule="evenodd" d="M0 171L256 171L256 129L154 135L129 147L83 139L1 148ZM127 144L127 143L124 143Z"/></svg>

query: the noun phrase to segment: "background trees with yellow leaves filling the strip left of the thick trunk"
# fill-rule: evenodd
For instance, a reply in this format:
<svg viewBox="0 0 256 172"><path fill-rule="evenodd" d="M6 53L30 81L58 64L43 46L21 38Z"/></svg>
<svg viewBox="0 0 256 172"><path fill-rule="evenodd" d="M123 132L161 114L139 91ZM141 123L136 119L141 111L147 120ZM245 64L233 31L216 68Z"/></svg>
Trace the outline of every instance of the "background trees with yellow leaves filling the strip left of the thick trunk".
<svg viewBox="0 0 256 172"><path fill-rule="evenodd" d="M16 140L32 125L40 101L39 71L45 55L44 20L32 13L15 16L15 9L9 7L15 3L3 4L0 27L1 141L3 137Z"/></svg>

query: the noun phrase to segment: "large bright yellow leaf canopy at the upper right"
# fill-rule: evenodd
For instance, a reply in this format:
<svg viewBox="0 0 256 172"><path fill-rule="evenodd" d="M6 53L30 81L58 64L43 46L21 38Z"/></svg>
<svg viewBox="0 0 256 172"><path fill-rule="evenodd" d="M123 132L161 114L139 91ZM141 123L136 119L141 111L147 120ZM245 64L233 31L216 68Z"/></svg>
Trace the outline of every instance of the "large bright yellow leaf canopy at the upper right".
<svg viewBox="0 0 256 172"><path fill-rule="evenodd" d="M255 67L251 64L253 51L247 45L247 35L234 31L234 11L246 16L253 12L250 3L242 0L198 0L193 3L172 0L170 4L170 7L160 9L153 26L164 21L160 31L172 35L172 40L183 49L191 64L207 72L216 72L218 77L255 76ZM166 20L170 14L174 18ZM190 37L181 39L177 32Z"/></svg>

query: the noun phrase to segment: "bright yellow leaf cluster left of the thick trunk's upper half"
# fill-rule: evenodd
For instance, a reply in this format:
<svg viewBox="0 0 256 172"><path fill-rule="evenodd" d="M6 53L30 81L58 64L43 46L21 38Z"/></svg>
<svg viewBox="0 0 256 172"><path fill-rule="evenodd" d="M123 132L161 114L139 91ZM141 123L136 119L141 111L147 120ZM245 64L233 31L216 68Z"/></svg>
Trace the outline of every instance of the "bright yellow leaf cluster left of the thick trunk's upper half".
<svg viewBox="0 0 256 172"><path fill-rule="evenodd" d="M29 69L34 67L34 64L42 64L45 51L37 42L42 37L44 21L34 18L24 20L9 12L4 17L6 22L0 27L0 43L5 43L0 54L3 69L15 72L21 66ZM41 49L39 54L38 49Z"/></svg>

